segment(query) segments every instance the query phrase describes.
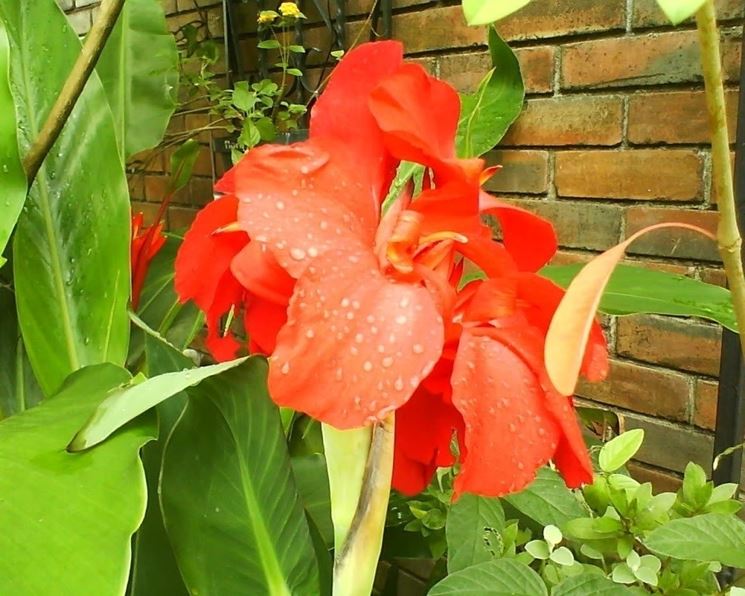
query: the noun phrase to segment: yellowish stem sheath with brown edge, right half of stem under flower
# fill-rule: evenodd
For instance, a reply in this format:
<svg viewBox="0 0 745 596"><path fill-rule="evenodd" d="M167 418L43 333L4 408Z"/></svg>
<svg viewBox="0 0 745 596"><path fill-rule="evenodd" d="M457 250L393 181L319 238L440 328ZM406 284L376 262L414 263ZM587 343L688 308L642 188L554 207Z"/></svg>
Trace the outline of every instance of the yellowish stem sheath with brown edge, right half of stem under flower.
<svg viewBox="0 0 745 596"><path fill-rule="evenodd" d="M372 592L393 474L394 415L372 430L357 510L343 547L334 561L334 596L369 596Z"/></svg>

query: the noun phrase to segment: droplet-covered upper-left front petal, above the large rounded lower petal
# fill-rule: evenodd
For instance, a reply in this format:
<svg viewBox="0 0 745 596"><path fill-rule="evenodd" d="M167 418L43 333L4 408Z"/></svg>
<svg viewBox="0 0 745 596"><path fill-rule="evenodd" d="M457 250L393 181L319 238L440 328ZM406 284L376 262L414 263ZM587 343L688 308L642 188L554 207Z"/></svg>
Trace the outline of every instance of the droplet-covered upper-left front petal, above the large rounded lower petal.
<svg viewBox="0 0 745 596"><path fill-rule="evenodd" d="M379 209L343 147L311 140L252 149L238 165L238 220L298 278L329 249L372 246Z"/></svg>

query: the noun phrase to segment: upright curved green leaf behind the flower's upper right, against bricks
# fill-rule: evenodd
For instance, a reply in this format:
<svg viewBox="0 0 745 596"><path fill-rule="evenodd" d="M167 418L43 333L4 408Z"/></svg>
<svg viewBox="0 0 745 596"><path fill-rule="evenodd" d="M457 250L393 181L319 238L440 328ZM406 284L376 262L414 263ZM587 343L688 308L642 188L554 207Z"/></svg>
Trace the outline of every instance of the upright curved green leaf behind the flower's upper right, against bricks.
<svg viewBox="0 0 745 596"><path fill-rule="evenodd" d="M492 149L523 108L525 85L520 64L494 28L489 29L489 52L492 70L475 93L461 99L456 137L459 157L478 157Z"/></svg>

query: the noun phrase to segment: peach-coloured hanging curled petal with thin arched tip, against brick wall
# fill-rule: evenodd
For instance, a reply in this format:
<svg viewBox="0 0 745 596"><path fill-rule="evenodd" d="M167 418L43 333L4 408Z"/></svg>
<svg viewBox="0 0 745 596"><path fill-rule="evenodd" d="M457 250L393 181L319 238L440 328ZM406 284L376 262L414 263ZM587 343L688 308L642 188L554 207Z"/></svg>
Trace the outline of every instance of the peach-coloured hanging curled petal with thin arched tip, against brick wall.
<svg viewBox="0 0 745 596"><path fill-rule="evenodd" d="M686 228L711 237L705 230L687 224L664 223L650 226L595 257L572 280L546 335L546 370L560 393L574 393L600 299L613 270L626 254L626 249L640 236L665 227Z"/></svg>

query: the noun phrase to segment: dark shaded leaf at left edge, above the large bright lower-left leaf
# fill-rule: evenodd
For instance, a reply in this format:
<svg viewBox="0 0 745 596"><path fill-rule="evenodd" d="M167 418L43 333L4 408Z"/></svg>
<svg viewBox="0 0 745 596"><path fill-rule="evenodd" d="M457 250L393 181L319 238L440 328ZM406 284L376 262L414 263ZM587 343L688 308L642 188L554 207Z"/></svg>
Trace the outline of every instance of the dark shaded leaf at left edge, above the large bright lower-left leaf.
<svg viewBox="0 0 745 596"><path fill-rule="evenodd" d="M13 292L0 287L0 420L38 404L44 394L26 356Z"/></svg>

